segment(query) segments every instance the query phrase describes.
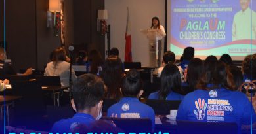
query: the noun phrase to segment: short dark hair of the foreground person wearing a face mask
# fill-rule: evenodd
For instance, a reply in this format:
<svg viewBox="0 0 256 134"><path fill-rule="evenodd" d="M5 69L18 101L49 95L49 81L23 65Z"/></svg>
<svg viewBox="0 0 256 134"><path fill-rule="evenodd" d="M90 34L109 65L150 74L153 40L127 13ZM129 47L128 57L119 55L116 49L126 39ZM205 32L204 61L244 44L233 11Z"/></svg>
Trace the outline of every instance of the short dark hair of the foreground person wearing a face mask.
<svg viewBox="0 0 256 134"><path fill-rule="evenodd" d="M90 109L103 99L104 82L96 75L84 74L75 80L72 92L77 110Z"/></svg>

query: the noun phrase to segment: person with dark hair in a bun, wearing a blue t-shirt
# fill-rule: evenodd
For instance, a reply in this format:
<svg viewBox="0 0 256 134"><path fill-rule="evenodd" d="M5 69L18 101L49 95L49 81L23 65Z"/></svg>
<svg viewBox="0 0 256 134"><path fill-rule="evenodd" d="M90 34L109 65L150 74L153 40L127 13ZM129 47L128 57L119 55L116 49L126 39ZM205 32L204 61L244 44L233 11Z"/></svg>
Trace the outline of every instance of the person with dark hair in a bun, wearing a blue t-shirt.
<svg viewBox="0 0 256 134"><path fill-rule="evenodd" d="M139 101L142 95L142 80L135 69L131 69L121 83L123 98L108 109L108 117L116 118L150 118L155 125L155 113L152 107Z"/></svg>

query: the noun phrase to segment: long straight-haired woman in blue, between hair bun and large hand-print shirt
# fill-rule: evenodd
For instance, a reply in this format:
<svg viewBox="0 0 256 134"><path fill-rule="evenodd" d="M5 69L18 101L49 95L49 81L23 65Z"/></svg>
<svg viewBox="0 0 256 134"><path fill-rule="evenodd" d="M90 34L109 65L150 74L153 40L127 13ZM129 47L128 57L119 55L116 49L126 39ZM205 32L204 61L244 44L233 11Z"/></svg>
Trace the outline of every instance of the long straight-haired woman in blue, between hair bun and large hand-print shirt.
<svg viewBox="0 0 256 134"><path fill-rule="evenodd" d="M161 73L161 88L158 92L151 93L148 99L160 100L182 100L181 75L179 69L174 64L165 65Z"/></svg>

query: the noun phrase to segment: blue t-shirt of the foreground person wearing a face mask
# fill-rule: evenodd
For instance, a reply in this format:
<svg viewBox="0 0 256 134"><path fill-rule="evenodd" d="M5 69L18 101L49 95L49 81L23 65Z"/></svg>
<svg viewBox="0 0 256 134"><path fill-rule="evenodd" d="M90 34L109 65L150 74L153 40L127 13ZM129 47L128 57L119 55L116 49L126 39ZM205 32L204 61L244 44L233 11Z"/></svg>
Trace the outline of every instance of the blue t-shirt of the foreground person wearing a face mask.
<svg viewBox="0 0 256 134"><path fill-rule="evenodd" d="M79 124L89 126L89 124L95 122L95 118L90 114L77 113L72 118L62 119L53 124L51 132L53 133L68 133L72 132L72 129L77 127Z"/></svg>

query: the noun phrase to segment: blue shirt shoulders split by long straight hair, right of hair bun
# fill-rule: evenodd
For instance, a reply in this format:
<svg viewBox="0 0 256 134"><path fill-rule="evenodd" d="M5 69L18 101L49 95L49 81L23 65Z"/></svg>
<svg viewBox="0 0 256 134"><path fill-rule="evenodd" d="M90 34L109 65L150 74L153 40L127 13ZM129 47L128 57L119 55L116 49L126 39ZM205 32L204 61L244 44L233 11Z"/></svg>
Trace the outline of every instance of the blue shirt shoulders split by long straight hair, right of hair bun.
<svg viewBox="0 0 256 134"><path fill-rule="evenodd" d="M171 92L167 95L166 100L173 101L173 100L182 100L183 95L180 95L179 93ZM150 93L148 96L148 99L158 99L159 95L158 92Z"/></svg>

